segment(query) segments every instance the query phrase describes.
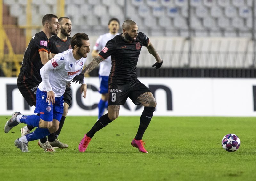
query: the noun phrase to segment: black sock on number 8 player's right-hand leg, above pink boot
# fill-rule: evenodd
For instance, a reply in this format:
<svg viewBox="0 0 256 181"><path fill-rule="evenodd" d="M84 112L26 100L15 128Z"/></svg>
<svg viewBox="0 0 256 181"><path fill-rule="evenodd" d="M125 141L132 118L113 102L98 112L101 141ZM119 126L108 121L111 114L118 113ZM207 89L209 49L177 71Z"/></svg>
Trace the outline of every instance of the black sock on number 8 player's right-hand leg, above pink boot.
<svg viewBox="0 0 256 181"><path fill-rule="evenodd" d="M144 110L140 116L140 126L138 128L135 140L142 140L143 134L145 133L152 117L155 107L144 107Z"/></svg>

